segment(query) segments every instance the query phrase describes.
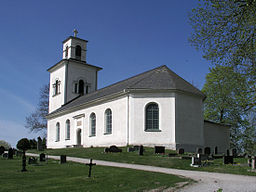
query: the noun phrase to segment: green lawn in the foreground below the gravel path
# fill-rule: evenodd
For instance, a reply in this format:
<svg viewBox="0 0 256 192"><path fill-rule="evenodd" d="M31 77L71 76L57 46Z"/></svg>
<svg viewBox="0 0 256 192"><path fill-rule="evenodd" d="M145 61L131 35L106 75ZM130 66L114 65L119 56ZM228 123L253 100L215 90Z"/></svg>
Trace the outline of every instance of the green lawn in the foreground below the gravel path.
<svg viewBox="0 0 256 192"><path fill-rule="evenodd" d="M124 168L94 166L88 178L88 166L49 160L47 163L27 165L21 172L21 158L12 160L0 157L0 191L69 192L69 191L143 191L166 189L179 182L191 180L161 173Z"/></svg>

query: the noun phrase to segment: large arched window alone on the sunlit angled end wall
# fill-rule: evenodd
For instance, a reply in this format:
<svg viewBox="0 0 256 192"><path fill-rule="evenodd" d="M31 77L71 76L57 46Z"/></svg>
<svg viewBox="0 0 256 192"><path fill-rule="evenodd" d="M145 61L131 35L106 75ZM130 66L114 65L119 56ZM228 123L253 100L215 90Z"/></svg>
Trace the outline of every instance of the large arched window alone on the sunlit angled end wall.
<svg viewBox="0 0 256 192"><path fill-rule="evenodd" d="M146 106L145 130L159 130L159 108L156 103L150 103Z"/></svg>

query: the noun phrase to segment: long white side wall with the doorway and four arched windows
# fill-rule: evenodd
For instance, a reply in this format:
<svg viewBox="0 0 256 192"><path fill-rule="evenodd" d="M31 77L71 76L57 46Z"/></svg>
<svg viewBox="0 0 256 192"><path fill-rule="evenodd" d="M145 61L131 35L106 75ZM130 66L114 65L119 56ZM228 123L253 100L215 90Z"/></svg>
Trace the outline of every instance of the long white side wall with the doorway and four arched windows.
<svg viewBox="0 0 256 192"><path fill-rule="evenodd" d="M99 146L124 146L127 139L127 97L122 97L113 101L108 101L96 106L81 109L70 114L66 114L48 120L47 148L65 148L77 144L76 132L81 128L81 144L84 147ZM105 110L112 110L112 134L105 133ZM89 117L91 113L96 114L96 136L90 136ZM81 115L80 118L73 118ZM83 117L84 115L84 117ZM65 140L65 122L70 120L70 140ZM82 125L77 126L77 121L82 121ZM56 142L56 123L60 123L60 141Z"/></svg>

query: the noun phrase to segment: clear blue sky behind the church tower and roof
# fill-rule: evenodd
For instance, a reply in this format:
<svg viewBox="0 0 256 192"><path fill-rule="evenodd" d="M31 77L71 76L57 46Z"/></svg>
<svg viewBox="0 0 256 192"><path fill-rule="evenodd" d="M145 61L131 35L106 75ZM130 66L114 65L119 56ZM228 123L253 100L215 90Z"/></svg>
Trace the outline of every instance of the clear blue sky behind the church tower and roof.
<svg viewBox="0 0 256 192"><path fill-rule="evenodd" d="M202 88L211 64L191 47L188 13L197 0L1 1L0 140L16 146L62 41L88 40L87 62L103 68L98 87L160 65Z"/></svg>

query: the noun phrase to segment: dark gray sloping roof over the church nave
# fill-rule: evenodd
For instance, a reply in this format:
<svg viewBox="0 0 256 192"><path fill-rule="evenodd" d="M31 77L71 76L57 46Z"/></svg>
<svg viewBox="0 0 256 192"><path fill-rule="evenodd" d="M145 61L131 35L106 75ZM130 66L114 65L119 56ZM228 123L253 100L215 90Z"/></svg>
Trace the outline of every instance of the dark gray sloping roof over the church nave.
<svg viewBox="0 0 256 192"><path fill-rule="evenodd" d="M90 94L79 96L48 115L86 104L125 90L179 90L205 98L205 95L165 65L117 82Z"/></svg>

